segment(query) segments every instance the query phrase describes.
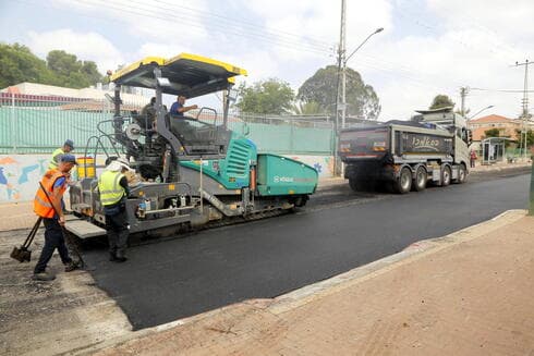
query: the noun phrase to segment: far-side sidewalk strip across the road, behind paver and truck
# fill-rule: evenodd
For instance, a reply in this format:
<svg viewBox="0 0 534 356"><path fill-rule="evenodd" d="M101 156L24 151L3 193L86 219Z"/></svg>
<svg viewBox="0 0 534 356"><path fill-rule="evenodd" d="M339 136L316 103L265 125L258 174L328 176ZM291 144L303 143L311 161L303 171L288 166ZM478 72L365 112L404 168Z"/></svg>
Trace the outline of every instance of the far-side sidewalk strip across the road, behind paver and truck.
<svg viewBox="0 0 534 356"><path fill-rule="evenodd" d="M470 169L473 174L484 173L488 171L502 171L507 169L514 169L521 167L530 167L531 163L497 163L491 165L477 165L474 169ZM339 184L347 184L343 177L328 177L320 179L317 191L331 187ZM0 231L17 230L17 229L32 229L35 222L35 213L33 212L32 201L21 202L3 202L0 204Z"/></svg>

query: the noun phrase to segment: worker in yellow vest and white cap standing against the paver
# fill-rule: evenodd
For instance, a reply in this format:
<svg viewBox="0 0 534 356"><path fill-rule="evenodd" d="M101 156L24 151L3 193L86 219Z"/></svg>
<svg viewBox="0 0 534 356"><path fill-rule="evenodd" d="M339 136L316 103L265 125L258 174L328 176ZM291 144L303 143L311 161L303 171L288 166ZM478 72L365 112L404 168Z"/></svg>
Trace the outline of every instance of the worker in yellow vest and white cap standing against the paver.
<svg viewBox="0 0 534 356"><path fill-rule="evenodd" d="M129 170L128 162L119 158L111 161L98 179L100 201L106 214L109 260L112 262L126 261L125 253L130 225L125 200L130 191L124 173Z"/></svg>

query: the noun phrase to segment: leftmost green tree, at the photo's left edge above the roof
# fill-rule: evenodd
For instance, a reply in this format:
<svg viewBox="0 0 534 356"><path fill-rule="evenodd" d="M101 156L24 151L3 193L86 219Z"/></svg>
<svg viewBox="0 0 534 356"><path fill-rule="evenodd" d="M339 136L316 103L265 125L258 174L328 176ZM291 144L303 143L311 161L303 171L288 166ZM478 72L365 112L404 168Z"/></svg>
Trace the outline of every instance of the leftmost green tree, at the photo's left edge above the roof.
<svg viewBox="0 0 534 356"><path fill-rule="evenodd" d="M53 75L26 46L0 44L0 88L23 82L52 84Z"/></svg>

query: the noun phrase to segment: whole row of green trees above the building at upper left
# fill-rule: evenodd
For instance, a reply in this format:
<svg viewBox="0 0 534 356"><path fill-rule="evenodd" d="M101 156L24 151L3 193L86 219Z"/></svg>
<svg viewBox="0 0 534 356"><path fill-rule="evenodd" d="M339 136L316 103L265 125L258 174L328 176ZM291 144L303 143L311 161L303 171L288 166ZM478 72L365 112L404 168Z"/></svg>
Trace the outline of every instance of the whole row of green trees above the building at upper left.
<svg viewBox="0 0 534 356"><path fill-rule="evenodd" d="M84 88L101 81L93 61L62 50L50 51L44 61L26 46L0 44L0 88L24 82Z"/></svg>

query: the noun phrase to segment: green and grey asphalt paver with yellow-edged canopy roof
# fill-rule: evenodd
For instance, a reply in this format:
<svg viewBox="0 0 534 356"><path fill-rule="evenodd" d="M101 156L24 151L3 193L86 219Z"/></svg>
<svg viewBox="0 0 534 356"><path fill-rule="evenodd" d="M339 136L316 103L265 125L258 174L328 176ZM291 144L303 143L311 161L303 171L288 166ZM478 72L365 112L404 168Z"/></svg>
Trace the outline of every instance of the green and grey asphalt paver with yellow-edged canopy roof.
<svg viewBox="0 0 534 356"><path fill-rule="evenodd" d="M131 235L173 236L195 228L247 221L303 207L318 173L307 164L260 154L246 136L228 128L239 66L202 56L149 57L111 75L114 115L97 125L84 152L84 172L98 172L98 157L129 160L135 170L125 199ZM154 89L154 114L122 109L121 87ZM189 99L222 91L222 114L201 108L195 116L172 116L162 95ZM148 101L148 100L147 100ZM89 163L87 163L89 162ZM89 164L89 167L86 167ZM77 219L68 230L77 237L105 235L106 216L97 174L70 188Z"/></svg>

